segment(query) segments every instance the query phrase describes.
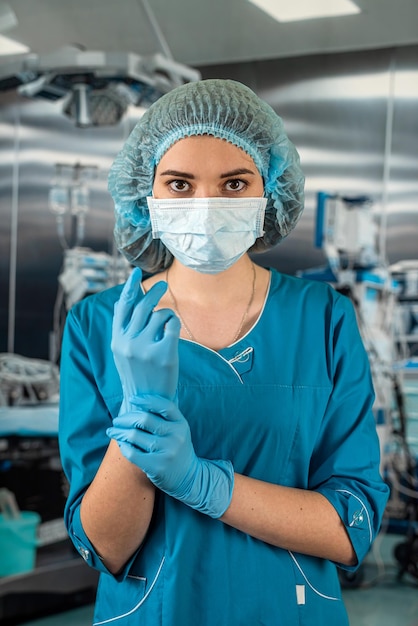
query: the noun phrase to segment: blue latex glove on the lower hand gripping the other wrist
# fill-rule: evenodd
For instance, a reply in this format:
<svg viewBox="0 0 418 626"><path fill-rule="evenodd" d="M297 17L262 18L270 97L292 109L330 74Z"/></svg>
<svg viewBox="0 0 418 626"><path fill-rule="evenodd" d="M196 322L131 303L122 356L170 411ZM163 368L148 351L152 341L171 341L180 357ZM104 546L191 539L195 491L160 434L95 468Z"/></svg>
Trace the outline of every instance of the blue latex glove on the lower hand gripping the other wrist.
<svg viewBox="0 0 418 626"><path fill-rule="evenodd" d="M168 495L213 518L221 517L231 502L232 463L196 455L189 424L173 402L158 396L129 402L136 410L119 415L107 430L122 454Z"/></svg>

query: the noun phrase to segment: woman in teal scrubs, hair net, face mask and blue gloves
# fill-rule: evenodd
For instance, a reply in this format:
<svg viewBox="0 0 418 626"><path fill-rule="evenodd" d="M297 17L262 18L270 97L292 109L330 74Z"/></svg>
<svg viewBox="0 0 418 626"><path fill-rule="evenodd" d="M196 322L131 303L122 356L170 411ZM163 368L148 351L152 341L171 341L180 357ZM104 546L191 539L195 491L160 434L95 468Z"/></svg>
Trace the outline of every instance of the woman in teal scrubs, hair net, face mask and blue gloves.
<svg viewBox="0 0 418 626"><path fill-rule="evenodd" d="M96 625L348 624L337 567L388 497L368 359L346 297L248 254L293 229L303 185L282 120L229 80L160 98L112 166L137 267L73 307L61 364Z"/></svg>

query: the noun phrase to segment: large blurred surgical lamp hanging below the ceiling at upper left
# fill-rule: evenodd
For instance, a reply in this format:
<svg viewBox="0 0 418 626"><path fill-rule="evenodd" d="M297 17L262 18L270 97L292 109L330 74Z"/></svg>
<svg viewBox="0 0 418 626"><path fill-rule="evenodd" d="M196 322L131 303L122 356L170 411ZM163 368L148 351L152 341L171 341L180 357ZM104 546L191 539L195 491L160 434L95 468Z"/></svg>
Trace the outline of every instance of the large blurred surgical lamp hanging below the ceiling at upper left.
<svg viewBox="0 0 418 626"><path fill-rule="evenodd" d="M80 128L118 124L129 106L147 108L174 87L201 78L161 53L71 48L27 55L8 66L0 71L0 91L14 88L27 98L63 100L63 113Z"/></svg>

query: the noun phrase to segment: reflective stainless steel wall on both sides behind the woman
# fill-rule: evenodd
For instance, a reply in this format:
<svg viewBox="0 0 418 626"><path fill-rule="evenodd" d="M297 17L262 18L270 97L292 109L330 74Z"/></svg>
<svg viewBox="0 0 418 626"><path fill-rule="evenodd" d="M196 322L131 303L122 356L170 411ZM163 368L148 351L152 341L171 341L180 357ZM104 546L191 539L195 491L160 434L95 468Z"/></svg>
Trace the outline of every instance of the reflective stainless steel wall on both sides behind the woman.
<svg viewBox="0 0 418 626"><path fill-rule="evenodd" d="M301 155L304 215L286 241L260 257L262 264L293 273L324 263L314 247L318 191L371 196L388 261L418 258L418 47L199 69L204 78L234 78L253 87L283 117ZM78 129L59 103L0 94L0 352L10 334L16 243L14 351L39 358L49 353L62 262L48 209L55 163L99 168L88 182L84 245L110 252L113 208L106 174L137 115L131 111L112 128Z"/></svg>

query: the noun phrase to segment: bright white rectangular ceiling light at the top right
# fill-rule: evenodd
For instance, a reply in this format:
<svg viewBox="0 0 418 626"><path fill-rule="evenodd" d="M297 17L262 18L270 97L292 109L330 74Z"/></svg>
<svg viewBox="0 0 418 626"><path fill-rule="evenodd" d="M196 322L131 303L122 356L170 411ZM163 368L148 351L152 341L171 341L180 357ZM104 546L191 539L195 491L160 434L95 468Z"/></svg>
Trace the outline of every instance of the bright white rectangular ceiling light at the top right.
<svg viewBox="0 0 418 626"><path fill-rule="evenodd" d="M296 22L360 13L351 0L250 0L278 22Z"/></svg>

